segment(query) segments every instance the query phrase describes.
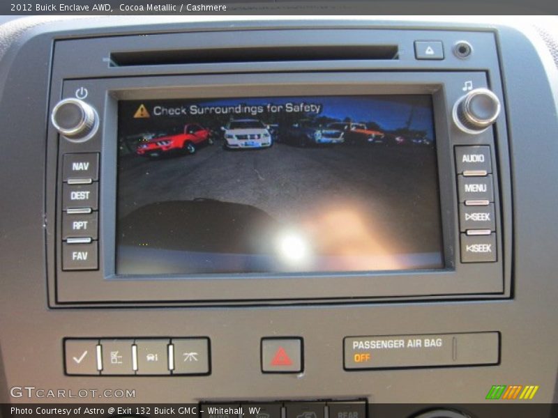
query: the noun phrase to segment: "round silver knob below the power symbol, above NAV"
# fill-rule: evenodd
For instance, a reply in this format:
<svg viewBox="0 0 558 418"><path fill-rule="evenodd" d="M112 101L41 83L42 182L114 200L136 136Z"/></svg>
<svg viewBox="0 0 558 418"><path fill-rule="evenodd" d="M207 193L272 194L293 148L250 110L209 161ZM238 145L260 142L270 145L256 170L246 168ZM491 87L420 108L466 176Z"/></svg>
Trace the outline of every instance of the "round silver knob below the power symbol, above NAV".
<svg viewBox="0 0 558 418"><path fill-rule="evenodd" d="M60 100L51 115L52 125L72 142L84 142L95 134L99 118L97 111L83 100Z"/></svg>

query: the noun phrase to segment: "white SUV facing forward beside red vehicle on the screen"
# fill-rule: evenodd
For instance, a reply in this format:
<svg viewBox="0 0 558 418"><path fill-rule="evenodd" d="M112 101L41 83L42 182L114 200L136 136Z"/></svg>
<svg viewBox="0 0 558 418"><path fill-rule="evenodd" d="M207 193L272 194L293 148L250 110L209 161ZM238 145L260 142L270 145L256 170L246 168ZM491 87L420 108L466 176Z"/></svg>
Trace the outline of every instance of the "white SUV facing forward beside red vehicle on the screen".
<svg viewBox="0 0 558 418"><path fill-rule="evenodd" d="M227 148L268 148L273 144L269 126L257 119L236 119L221 129Z"/></svg>

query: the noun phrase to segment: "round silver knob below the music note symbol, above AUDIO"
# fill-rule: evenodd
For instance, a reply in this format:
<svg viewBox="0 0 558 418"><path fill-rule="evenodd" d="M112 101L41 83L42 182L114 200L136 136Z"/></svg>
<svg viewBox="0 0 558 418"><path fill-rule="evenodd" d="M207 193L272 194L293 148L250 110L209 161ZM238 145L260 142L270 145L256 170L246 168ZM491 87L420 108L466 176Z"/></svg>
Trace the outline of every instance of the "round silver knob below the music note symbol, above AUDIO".
<svg viewBox="0 0 558 418"><path fill-rule="evenodd" d="M500 100L488 88L475 88L453 106L453 121L463 132L479 134L500 114Z"/></svg>

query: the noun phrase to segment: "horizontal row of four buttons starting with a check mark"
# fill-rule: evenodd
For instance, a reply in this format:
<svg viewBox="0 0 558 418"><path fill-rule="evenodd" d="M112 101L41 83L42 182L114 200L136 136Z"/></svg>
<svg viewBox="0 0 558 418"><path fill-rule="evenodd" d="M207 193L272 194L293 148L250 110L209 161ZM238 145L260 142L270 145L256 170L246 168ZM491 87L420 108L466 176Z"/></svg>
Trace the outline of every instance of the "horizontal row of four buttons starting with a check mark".
<svg viewBox="0 0 558 418"><path fill-rule="evenodd" d="M85 376L203 375L208 338L66 339L66 373Z"/></svg>

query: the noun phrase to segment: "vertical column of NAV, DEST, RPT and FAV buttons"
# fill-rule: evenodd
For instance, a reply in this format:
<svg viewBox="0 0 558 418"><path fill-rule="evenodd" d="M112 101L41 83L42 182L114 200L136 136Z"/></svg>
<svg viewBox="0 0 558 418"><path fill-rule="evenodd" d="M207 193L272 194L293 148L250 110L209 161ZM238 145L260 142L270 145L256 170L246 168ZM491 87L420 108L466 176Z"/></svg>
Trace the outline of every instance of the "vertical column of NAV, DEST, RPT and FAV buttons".
<svg viewBox="0 0 558 418"><path fill-rule="evenodd" d="M65 154L62 180L62 270L97 270L99 154Z"/></svg>

